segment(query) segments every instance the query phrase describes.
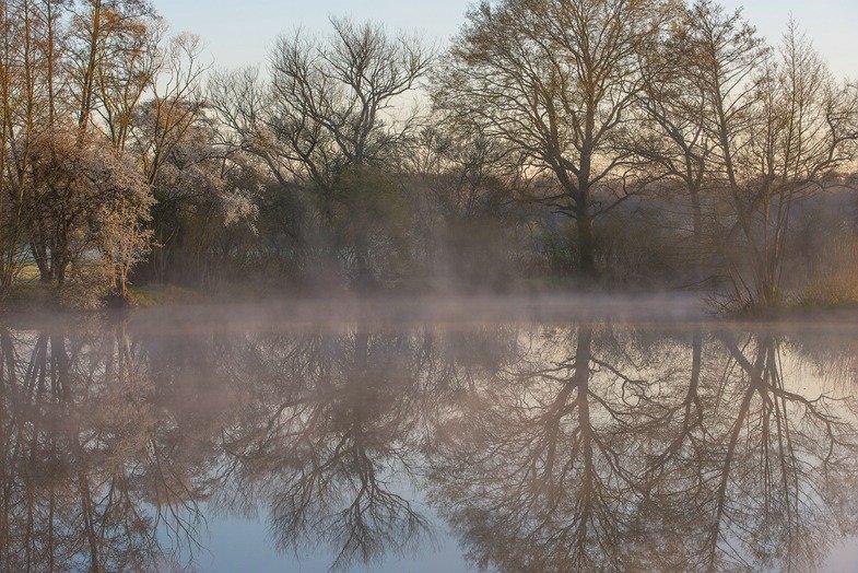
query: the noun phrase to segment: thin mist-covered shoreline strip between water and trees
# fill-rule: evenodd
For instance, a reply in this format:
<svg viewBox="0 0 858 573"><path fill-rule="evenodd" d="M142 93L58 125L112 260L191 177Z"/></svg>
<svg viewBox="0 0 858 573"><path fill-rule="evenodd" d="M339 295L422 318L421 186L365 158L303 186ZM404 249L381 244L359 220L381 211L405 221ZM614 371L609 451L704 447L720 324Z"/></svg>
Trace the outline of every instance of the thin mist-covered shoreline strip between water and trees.
<svg viewBox="0 0 858 573"><path fill-rule="evenodd" d="M20 301L20 300L19 300ZM125 319L174 324L181 329L214 324L249 323L272 327L337 327L359 325L433 324L489 326L520 323L610 321L630 326L719 325L726 328L784 327L858 328L858 305L785 306L763 316L716 314L705 297L690 291L649 292L510 292L510 293L265 293L242 297L205 295L168 286L128 307L107 305L80 309L61 307L56 301L33 297L7 303L0 321L68 323L85 318ZM141 304L142 302L142 304ZM16 304L17 303L17 304Z"/></svg>

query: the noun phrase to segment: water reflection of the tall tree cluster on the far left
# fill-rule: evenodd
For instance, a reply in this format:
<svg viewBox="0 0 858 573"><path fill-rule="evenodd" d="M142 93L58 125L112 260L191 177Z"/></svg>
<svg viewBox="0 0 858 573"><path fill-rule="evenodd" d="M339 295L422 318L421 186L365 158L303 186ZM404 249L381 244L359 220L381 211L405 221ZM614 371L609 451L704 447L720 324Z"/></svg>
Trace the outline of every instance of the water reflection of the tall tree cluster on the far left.
<svg viewBox="0 0 858 573"><path fill-rule="evenodd" d="M0 569L163 566L158 531L192 551L205 468L124 326L3 328L0 344Z"/></svg>

